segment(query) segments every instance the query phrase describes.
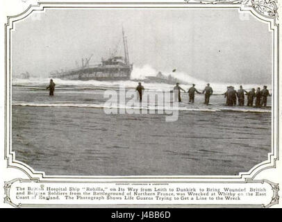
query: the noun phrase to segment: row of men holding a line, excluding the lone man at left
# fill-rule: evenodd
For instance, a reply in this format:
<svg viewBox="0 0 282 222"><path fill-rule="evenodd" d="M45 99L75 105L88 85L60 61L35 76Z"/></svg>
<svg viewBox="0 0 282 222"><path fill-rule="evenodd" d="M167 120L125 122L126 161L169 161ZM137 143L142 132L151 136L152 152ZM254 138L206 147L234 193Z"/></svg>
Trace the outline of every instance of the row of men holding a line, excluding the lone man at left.
<svg viewBox="0 0 282 222"><path fill-rule="evenodd" d="M138 87L136 87L136 90L139 92L140 95L140 101L142 101L142 90L144 90L144 87L141 85L141 83L138 83ZM174 90L178 90L179 95L178 99L179 102L181 102L181 90L185 92L183 88L179 86L179 83L176 83L176 86L174 86ZM194 95L195 92L197 94L205 94L205 104L208 105L210 103L210 96L213 94L213 88L210 87L210 83L207 84L203 92L199 92L196 88L195 85L192 84L192 87L188 89L188 94L189 94L189 103L194 103ZM246 94L244 94L246 93ZM240 85L240 89L237 91L234 89L233 86L227 87L227 91L224 92L224 98L226 98L226 105L236 105L237 104L237 99L238 99L238 105L242 106L244 105L244 95L247 95L247 105L248 106L253 106L254 105L254 98L256 97L256 107L260 106L266 106L267 105L267 96L271 96L269 94L269 91L267 89L267 86L263 86L263 89L260 90L260 87L258 89L252 88L251 91L247 92L245 89L243 89L242 85Z"/></svg>

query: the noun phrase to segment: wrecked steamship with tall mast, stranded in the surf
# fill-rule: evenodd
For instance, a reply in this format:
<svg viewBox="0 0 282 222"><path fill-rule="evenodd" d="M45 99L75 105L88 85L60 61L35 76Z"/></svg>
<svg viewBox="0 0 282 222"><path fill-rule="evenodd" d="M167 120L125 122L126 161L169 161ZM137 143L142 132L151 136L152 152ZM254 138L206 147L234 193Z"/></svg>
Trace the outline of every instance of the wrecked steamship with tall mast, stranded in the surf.
<svg viewBox="0 0 282 222"><path fill-rule="evenodd" d="M131 77L133 64L129 62L127 39L122 30L122 40L124 43L124 57L112 56L107 60L101 60L98 65L89 65L90 58L82 59L81 67L66 71L58 71L50 74L51 78L65 80L128 80Z"/></svg>

